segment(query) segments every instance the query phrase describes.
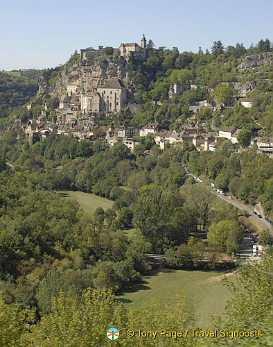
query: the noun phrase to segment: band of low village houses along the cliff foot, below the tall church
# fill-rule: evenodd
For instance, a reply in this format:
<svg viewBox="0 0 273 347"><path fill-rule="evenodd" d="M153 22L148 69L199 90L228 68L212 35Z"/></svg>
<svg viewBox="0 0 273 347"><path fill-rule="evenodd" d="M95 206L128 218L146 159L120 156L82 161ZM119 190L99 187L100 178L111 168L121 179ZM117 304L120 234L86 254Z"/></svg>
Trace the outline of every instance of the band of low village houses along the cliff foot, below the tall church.
<svg viewBox="0 0 273 347"><path fill-rule="evenodd" d="M30 120L24 131L26 135L33 136L35 139L43 139L48 137L50 133L55 132L58 135L69 135L78 137L79 139L93 140L96 138L94 133L100 129L100 134L105 134L105 142L109 146L114 146L116 142L123 142L130 150L134 150L134 146L139 144L134 136L146 137L149 135L155 140L160 149L164 150L169 144L193 143L198 151L215 151L217 146L223 139L229 139L234 149L238 144L238 134L240 129L235 126L223 126L218 132L198 131L196 128L174 129L170 131L155 121L149 123L139 129L130 124L122 126L98 126L96 121L90 117L80 118L80 110L77 105L60 102L57 109L58 119L56 123L48 121L44 115L38 117L37 120ZM67 123L67 124L65 124ZM101 136L101 135L100 135ZM258 137L256 133L252 134L251 144L256 145L260 151L272 153L273 138Z"/></svg>

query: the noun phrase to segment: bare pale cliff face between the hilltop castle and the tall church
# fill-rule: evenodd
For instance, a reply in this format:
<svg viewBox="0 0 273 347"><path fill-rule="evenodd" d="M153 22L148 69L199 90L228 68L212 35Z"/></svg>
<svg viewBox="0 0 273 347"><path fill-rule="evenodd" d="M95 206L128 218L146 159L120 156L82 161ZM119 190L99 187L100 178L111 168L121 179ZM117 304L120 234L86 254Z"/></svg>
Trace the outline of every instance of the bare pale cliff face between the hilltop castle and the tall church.
<svg viewBox="0 0 273 347"><path fill-rule="evenodd" d="M80 96L80 90L85 92L96 90L109 78L120 78L127 85L127 62L121 58L95 59L88 65L82 62L75 62L68 70L64 66L58 77L54 89L54 94L59 99L64 99L67 92L67 85L76 84L78 90L74 96Z"/></svg>

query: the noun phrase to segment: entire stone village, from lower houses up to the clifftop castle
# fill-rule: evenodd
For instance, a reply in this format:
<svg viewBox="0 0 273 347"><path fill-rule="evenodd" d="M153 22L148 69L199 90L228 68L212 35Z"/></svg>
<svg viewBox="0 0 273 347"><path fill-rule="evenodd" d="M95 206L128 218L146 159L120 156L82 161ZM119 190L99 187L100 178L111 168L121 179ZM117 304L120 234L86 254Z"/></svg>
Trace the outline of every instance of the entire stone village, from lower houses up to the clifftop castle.
<svg viewBox="0 0 273 347"><path fill-rule="evenodd" d="M140 45L136 42L122 43L118 49L111 47L111 54L121 57L125 65L133 59L145 61L146 46L146 38L143 35ZM98 46L98 49L81 49L80 61L84 64L90 60L103 59L105 50L107 51L107 47L103 48L103 46ZM17 124L17 127L21 126L26 135L32 137L34 141L49 136L51 132L58 133L58 135L71 134L80 140L92 141L96 139L96 133L98 134L98 130L100 130L100 137L105 138L105 142L109 146L114 146L116 142L123 142L132 151L140 143L138 137L146 136L154 139L155 144L159 145L161 150L166 149L170 144L188 142L192 143L198 151L215 151L224 139L229 139L235 151L242 147L239 146L237 138L240 128L220 126L214 127L212 131L206 131L204 130L206 121L197 120L197 112L203 108L212 112L222 110L224 105L215 103L215 101L202 100L195 102L194 105L188 105L188 112L191 112L191 117L188 117L184 124L179 124L172 130L168 126L160 124L156 119L142 128L133 126L128 121L117 124L114 122L114 117L118 112L125 110L135 112L134 110L139 108L127 86L127 72L126 74L123 72L123 78L120 78L122 75L120 70L121 67L116 67L116 70L112 73L110 71L106 78L96 78L96 83L93 81L93 84L88 84L87 78L83 78L82 74L77 72L76 78L62 85L64 92L61 95L64 98L59 101L58 107L55 108L54 121L52 119L49 121L49 117L46 117L49 112L45 101L44 110L37 119L30 119L27 124ZM91 71L91 75L94 75L94 71ZM227 83L222 84L227 85ZM238 89L238 85L239 83L233 83L234 89ZM197 86L191 83L170 83L168 97L172 99L175 96L182 96L185 91L196 88ZM245 97L251 91L252 85L238 91L236 96L232 96L228 108L232 110L236 105L252 108L252 99ZM37 103L33 102L26 107L31 110L35 105ZM162 103L152 101L152 105L154 108L159 108ZM101 115L112 118L112 124L101 125ZM250 135L250 146L255 144L258 150L272 155L273 138L258 135L256 131L252 131ZM247 148L248 146L244 147Z"/></svg>

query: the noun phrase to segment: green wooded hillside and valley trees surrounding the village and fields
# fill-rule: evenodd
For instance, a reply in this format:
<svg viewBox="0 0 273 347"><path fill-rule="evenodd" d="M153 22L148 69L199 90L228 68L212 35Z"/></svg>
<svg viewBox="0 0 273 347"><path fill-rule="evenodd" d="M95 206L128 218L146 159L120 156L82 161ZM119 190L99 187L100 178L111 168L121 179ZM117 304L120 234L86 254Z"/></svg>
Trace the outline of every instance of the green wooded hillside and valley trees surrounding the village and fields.
<svg viewBox="0 0 273 347"><path fill-rule="evenodd" d="M111 325L121 329L117 346L234 346L229 338L130 339L127 329L185 330L196 322L181 293L175 306L155 301L128 312L116 294L160 268L147 253L160 255L170 271L237 268L243 234L249 232L247 216L211 194L210 185L251 208L261 202L273 218L272 158L256 146L234 152L229 140L215 151L197 151L186 141L162 151L150 135L134 136L138 144L130 151L122 142L109 146L99 127L141 128L158 121L174 130L194 121L200 130L227 125L273 135L272 44L261 40L248 49L243 44L224 48L217 41L211 53L201 48L179 53L175 47L156 49L150 40L147 51L145 61L129 62L111 50L85 61L75 52L65 65L41 75L35 70L0 73L0 346L108 346L105 332ZM64 81L80 78L82 69L88 76L95 65L101 74L109 66L122 67L127 108L96 115L91 140L54 130L44 137L25 131L38 116L54 125ZM171 83L194 87L170 98ZM243 90L252 108L232 104ZM77 98L67 96L69 102ZM194 114L191 106L204 100L212 106ZM30 101L35 103L27 109ZM186 174L185 164L204 184ZM62 198L64 189L114 204L87 214L76 201ZM234 299L222 319L212 319L211 328L263 330L267 342L273 239L268 231L261 235L269 248L263 261L239 268L238 280L229 285ZM251 346L263 346L260 341L252 339ZM247 343L236 339L236 346Z"/></svg>

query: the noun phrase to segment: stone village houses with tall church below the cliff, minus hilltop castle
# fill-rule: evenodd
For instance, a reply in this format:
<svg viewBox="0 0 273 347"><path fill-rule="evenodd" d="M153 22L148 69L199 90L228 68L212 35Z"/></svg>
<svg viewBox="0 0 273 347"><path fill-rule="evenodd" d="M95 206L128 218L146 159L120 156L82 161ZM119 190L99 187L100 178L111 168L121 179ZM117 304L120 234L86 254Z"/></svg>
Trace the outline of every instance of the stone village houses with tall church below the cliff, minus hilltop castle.
<svg viewBox="0 0 273 347"><path fill-rule="evenodd" d="M174 94L182 94L184 90L195 88L195 85L172 83L170 85L169 96ZM73 94L74 90L69 90ZM55 132L58 135L69 135L78 137L79 139L93 140L96 138L96 130L100 129L100 137L105 135L105 142L109 146L114 146L116 142L123 142L130 150L134 150L139 141L135 138L146 137L149 135L155 140L155 144L164 150L169 144L193 143L198 151L215 151L223 139L229 139L236 149L238 144L238 134L240 129L234 126L223 126L218 132L198 131L193 126L188 128L174 129L173 131L162 127L157 121L147 124L139 129L130 124L122 126L98 126L96 115L98 111L121 110L123 103L126 101L126 89L123 82L118 78L111 78L106 81L103 87L99 87L94 92L81 92L80 104L71 103L70 101L61 100L56 111L55 123L48 121L46 118L46 105L44 112L37 120L30 120L24 131L33 139L43 139L48 137L50 133ZM238 100L246 108L252 107L251 99L240 98ZM29 108L31 108L31 104ZM218 110L218 105L211 105L206 100L200 101L193 108L193 112L197 112L200 108L209 107ZM273 139L270 137L258 137L258 134L252 134L252 145L256 145L259 150L272 153Z"/></svg>

